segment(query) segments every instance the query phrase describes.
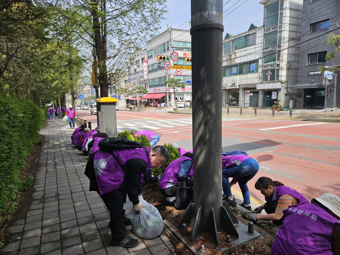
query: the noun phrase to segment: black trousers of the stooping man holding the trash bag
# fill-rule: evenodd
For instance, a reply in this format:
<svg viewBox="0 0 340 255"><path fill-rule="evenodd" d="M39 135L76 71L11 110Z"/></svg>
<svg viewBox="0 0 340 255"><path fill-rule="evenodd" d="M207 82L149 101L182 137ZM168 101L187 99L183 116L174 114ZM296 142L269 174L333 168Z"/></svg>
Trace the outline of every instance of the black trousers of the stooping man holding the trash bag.
<svg viewBox="0 0 340 255"><path fill-rule="evenodd" d="M126 202L126 189L119 188L114 191L101 194L107 210L110 212L111 235L114 240L121 241L128 236L128 231L124 225L125 210L123 205Z"/></svg>

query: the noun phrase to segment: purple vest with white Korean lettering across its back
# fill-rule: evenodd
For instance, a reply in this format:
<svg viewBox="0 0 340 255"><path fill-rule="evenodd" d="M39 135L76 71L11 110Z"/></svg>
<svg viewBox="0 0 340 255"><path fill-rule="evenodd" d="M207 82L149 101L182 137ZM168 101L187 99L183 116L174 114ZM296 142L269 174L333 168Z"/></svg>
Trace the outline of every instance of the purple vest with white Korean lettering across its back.
<svg viewBox="0 0 340 255"><path fill-rule="evenodd" d="M330 235L340 223L324 209L304 204L283 211L285 220L278 227L271 255L333 255Z"/></svg>

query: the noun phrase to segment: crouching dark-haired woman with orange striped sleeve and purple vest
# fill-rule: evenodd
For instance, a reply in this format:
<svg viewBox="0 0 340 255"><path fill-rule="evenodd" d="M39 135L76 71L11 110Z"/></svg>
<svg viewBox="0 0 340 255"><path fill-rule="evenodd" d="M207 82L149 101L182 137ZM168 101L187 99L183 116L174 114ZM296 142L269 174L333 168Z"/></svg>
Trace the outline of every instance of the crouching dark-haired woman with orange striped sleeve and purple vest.
<svg viewBox="0 0 340 255"><path fill-rule="evenodd" d="M252 221L267 220L275 225L282 225L285 219L283 210L310 204L309 201L296 190L284 186L282 182L273 181L268 177L260 177L255 183L255 188L265 195L266 203L256 207L254 212L259 214L263 209L268 215L251 215Z"/></svg>

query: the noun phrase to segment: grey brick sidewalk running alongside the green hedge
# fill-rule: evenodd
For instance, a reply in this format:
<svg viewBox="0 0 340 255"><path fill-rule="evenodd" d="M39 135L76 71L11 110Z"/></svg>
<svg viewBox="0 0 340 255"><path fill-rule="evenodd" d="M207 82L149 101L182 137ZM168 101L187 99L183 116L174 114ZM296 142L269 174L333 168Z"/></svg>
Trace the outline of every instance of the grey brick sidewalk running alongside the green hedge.
<svg viewBox="0 0 340 255"><path fill-rule="evenodd" d="M89 180L84 175L87 156L71 145L72 131L62 120L48 121L47 128L41 130L45 142L36 175L32 176L32 196L23 199L23 209L11 227L11 243L2 247L4 252L10 255L174 254L164 235L153 240L138 238L139 245L132 249L111 246L109 213L99 195L88 191ZM128 234L137 238L131 226L128 227Z"/></svg>

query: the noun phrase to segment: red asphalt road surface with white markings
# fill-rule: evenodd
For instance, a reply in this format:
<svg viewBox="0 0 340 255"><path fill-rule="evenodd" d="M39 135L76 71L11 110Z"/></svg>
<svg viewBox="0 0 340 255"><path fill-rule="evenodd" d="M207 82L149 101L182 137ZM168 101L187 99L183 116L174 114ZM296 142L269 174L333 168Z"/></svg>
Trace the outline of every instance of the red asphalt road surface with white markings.
<svg viewBox="0 0 340 255"><path fill-rule="evenodd" d="M97 122L96 116L89 116L89 111L78 111L79 116L87 121ZM117 120L180 119L191 115L170 114L165 112L123 112L117 111ZM315 124L318 123L318 124ZM303 194L308 200L319 197L325 192L340 195L340 124L277 120L277 119L244 119L222 123L222 137L236 138L240 141L257 142L277 149L252 154L260 166L279 171L295 179L262 172L248 183L250 195L264 201L263 195L254 188L258 177L268 176L281 181ZM301 125L288 128L260 130L290 125ZM308 125L305 125L308 124ZM192 139L192 125L175 128L157 129L159 144L172 141ZM238 185L233 186L238 189Z"/></svg>

